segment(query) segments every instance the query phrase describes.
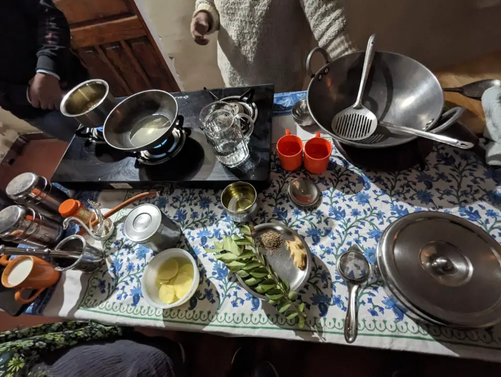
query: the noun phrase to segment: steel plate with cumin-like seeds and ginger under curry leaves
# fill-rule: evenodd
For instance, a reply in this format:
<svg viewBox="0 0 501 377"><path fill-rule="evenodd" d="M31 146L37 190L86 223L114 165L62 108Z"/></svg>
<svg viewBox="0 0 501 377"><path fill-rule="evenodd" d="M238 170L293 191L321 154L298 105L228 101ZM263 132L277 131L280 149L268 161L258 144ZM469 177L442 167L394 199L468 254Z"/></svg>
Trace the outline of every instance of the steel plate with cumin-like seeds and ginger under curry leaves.
<svg viewBox="0 0 501 377"><path fill-rule="evenodd" d="M279 232L284 237L284 242L282 243L282 245L273 253L269 252L263 247L260 247L260 242L259 242L259 237L261 236L261 234L269 230L274 230L276 232ZM283 280L289 283L289 285L291 286L291 290L298 291L306 284L308 278L310 277L310 272L312 269L312 253L310 247L305 242L303 237L301 237L293 229L285 225L266 223L257 225L254 228L253 238L256 242L256 245L258 246L258 249L265 255L266 259L268 260L268 263L270 263L275 272L277 272L277 274ZM300 270L298 267L294 265L291 253L285 243L286 240L294 241L295 238L301 240L301 242L303 243L303 247L306 250L306 268L304 270ZM245 285L240 276L236 275L236 278L238 279L240 285L247 292L262 300L268 301L268 298L266 296L253 291L247 285Z"/></svg>

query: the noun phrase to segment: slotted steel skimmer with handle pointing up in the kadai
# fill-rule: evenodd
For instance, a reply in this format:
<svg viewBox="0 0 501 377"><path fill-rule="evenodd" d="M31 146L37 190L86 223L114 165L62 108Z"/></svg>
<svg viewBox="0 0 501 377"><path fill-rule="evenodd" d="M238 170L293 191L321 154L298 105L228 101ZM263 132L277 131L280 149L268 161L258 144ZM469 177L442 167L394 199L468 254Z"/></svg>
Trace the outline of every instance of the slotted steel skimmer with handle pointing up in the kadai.
<svg viewBox="0 0 501 377"><path fill-rule="evenodd" d="M364 68L362 70L362 79L355 103L349 108L338 113L332 120L332 131L345 140L357 141L371 136L377 128L377 118L373 112L362 105L362 95L364 94L365 84L369 77L372 60L374 59L374 41L376 35L373 34L367 42L365 51Z"/></svg>

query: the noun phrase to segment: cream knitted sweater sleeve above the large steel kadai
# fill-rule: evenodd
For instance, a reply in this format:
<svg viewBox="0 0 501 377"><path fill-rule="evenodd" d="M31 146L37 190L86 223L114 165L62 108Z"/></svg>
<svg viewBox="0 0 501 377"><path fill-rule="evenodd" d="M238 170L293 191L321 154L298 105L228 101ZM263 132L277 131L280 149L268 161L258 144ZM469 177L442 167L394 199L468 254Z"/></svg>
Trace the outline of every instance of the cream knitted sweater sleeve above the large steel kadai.
<svg viewBox="0 0 501 377"><path fill-rule="evenodd" d="M346 33L346 19L339 0L301 0L306 19L320 47L331 59L355 50Z"/></svg>

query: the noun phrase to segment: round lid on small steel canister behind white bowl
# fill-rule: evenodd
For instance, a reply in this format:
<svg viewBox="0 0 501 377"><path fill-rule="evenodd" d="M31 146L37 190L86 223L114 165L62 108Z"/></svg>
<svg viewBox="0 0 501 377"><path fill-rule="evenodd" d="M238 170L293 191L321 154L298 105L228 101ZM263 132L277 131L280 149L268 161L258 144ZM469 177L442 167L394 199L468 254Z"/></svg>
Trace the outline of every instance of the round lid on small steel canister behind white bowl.
<svg viewBox="0 0 501 377"><path fill-rule="evenodd" d="M160 209L153 204L141 204L129 212L124 221L124 235L133 242L147 241L162 222Z"/></svg>

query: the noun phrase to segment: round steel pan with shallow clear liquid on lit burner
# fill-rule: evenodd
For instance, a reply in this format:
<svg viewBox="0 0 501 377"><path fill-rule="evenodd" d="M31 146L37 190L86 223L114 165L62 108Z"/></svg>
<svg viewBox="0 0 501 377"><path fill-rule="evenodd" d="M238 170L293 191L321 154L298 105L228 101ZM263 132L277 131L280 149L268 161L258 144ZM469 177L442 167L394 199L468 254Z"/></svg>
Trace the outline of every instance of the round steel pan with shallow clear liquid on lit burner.
<svg viewBox="0 0 501 377"><path fill-rule="evenodd" d="M149 150L166 140L175 128L182 127L177 102L161 90L136 93L110 112L103 135L108 145L122 151Z"/></svg>

